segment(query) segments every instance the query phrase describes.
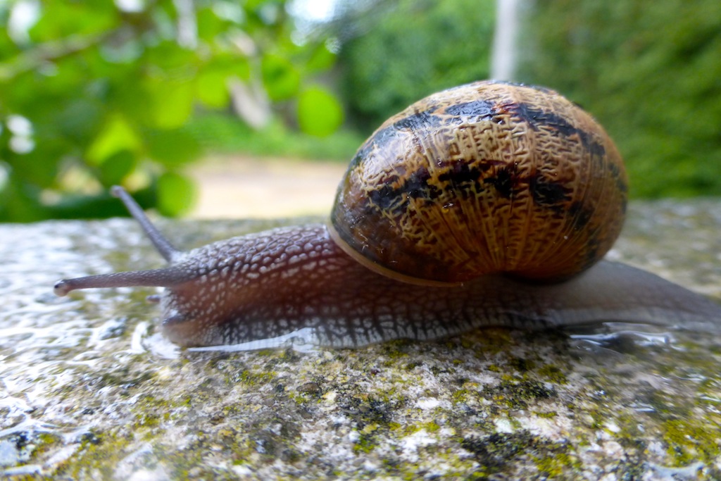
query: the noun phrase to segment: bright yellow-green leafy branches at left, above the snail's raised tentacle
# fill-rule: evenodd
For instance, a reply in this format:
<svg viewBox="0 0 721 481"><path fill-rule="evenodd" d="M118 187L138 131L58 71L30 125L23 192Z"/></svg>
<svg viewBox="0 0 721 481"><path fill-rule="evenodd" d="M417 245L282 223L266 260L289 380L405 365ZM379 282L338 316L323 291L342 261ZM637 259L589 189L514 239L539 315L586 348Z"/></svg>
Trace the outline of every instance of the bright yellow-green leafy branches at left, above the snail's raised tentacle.
<svg viewBox="0 0 721 481"><path fill-rule="evenodd" d="M16 1L0 4L0 24L3 221L120 213L112 184L167 215L186 211L182 169L203 147L189 120L226 110L233 84L260 115L270 99L309 133L342 122L312 81L335 56L291 40L283 1Z"/></svg>

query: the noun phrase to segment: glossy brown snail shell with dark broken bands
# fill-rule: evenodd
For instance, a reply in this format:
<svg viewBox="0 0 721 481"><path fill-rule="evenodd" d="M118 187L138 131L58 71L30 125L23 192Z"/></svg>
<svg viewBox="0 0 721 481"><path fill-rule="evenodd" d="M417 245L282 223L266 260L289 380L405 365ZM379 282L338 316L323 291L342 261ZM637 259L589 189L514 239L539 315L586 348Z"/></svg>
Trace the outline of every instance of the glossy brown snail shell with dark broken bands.
<svg viewBox="0 0 721 481"><path fill-rule="evenodd" d="M386 120L350 163L331 219L371 268L552 281L606 254L626 201L619 151L588 113L549 89L479 81Z"/></svg>

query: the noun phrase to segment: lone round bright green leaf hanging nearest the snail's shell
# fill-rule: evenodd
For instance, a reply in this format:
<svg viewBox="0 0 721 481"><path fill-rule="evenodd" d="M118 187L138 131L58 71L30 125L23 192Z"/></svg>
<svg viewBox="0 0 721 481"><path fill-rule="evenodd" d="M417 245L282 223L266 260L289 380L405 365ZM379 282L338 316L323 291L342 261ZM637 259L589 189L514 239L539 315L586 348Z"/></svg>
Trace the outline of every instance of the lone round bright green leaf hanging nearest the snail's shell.
<svg viewBox="0 0 721 481"><path fill-rule="evenodd" d="M343 122L340 102L321 87L311 87L301 93L298 100L298 125L305 133L327 136Z"/></svg>

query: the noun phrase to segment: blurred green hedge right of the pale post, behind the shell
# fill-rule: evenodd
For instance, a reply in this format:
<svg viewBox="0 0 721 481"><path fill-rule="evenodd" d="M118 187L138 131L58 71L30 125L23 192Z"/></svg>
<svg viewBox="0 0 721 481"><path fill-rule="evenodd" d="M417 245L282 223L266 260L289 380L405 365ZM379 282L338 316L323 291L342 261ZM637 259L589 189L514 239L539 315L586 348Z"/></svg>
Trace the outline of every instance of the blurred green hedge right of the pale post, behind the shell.
<svg viewBox="0 0 721 481"><path fill-rule="evenodd" d="M603 124L635 197L721 195L721 2L536 1L519 79Z"/></svg>

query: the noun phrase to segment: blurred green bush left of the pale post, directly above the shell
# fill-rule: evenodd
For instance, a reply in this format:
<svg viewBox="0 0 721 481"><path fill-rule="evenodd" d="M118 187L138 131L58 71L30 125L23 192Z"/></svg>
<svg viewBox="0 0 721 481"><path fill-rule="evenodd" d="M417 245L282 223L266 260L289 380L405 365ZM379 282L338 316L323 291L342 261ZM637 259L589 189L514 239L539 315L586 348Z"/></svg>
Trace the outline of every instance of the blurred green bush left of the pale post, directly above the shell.
<svg viewBox="0 0 721 481"><path fill-rule="evenodd" d="M340 22L338 35L361 33L339 53L351 118L372 131L428 94L487 79L494 24L490 0L385 1Z"/></svg>

